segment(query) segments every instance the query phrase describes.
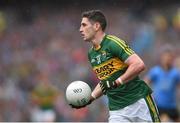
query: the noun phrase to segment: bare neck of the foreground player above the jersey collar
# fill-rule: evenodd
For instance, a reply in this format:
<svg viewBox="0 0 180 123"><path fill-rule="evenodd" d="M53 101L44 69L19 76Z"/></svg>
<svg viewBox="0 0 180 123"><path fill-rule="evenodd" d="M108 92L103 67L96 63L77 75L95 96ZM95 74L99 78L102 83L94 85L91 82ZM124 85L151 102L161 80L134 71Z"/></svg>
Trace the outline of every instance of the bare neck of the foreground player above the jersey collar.
<svg viewBox="0 0 180 123"><path fill-rule="evenodd" d="M98 49L100 47L100 44L105 36L104 32L99 32L95 35L94 39L92 40L93 47L95 49Z"/></svg>

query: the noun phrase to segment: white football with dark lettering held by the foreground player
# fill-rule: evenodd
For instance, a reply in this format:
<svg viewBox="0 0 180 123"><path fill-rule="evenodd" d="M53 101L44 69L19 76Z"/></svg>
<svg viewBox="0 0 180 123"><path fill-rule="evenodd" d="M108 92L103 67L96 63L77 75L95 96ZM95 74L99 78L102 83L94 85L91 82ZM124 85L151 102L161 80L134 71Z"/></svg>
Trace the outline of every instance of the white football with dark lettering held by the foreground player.
<svg viewBox="0 0 180 123"><path fill-rule="evenodd" d="M66 89L66 99L73 108L81 108L90 102L91 88L83 81L74 81Z"/></svg>

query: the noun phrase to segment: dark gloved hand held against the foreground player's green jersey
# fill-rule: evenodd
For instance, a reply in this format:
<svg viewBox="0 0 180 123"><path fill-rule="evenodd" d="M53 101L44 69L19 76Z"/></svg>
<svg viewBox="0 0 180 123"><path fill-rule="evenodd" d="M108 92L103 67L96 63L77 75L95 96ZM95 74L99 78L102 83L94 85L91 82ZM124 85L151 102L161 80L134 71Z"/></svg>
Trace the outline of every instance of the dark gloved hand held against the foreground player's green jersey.
<svg viewBox="0 0 180 123"><path fill-rule="evenodd" d="M105 82L102 82L100 81L100 87L101 87L101 90L103 92L103 94L106 94L107 90L111 90L111 89L114 89L114 88L117 88L117 83L115 81L105 81Z"/></svg>

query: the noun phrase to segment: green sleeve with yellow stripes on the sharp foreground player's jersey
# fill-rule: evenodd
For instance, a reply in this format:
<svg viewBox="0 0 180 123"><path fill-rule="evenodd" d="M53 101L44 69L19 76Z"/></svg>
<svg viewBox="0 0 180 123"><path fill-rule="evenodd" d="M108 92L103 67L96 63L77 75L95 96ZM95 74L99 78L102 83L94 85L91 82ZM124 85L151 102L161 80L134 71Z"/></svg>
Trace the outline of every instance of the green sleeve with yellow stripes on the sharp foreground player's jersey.
<svg viewBox="0 0 180 123"><path fill-rule="evenodd" d="M111 52L122 61L125 61L129 56L134 54L134 51L129 47L129 45L119 38L111 39L110 49Z"/></svg>

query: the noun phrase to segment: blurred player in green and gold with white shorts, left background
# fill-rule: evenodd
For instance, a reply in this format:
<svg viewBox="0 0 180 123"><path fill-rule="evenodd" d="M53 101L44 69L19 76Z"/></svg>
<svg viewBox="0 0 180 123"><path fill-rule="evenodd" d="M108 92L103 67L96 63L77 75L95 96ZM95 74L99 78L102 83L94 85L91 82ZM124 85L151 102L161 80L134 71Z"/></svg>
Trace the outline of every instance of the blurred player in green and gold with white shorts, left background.
<svg viewBox="0 0 180 123"><path fill-rule="evenodd" d="M39 82L32 90L31 120L33 122L54 122L56 121L55 102L58 97L58 90L53 86L45 74L40 74Z"/></svg>

